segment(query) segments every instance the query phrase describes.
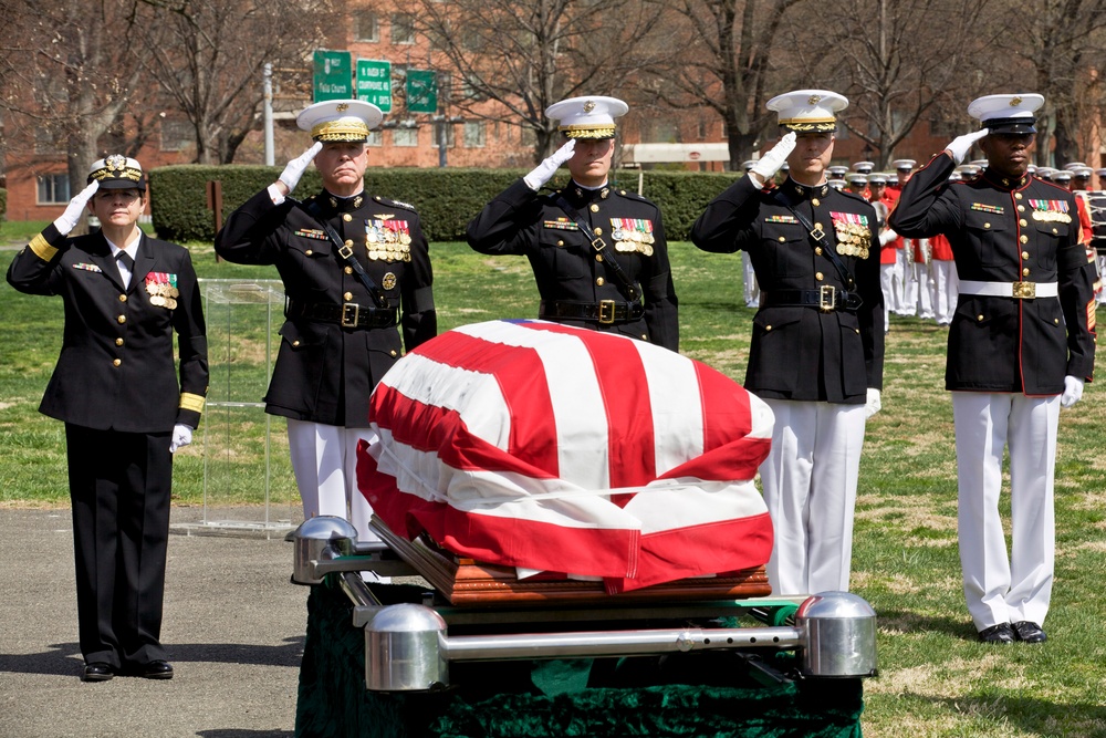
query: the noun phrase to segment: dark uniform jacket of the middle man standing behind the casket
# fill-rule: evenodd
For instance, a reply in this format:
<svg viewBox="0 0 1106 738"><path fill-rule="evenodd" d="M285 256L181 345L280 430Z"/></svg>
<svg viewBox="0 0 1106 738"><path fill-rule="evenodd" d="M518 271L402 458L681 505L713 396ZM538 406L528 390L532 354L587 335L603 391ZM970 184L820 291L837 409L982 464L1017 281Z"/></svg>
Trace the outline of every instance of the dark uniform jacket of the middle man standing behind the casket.
<svg viewBox="0 0 1106 738"><path fill-rule="evenodd" d="M562 194L606 242L602 254L556 204L557 193L535 193L522 179L469 222L469 246L480 253L530 260L541 295L540 318L677 351L678 301L659 208L611 186L588 189L570 183ZM629 301L619 288L603 261L608 253L644 295L644 305Z"/></svg>

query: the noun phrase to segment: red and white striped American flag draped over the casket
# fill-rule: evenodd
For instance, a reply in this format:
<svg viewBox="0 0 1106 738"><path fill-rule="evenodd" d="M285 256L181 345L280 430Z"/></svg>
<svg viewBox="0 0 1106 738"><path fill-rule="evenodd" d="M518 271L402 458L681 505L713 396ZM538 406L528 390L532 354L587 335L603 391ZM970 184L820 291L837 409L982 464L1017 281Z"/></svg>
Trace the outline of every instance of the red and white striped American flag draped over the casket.
<svg viewBox="0 0 1106 738"><path fill-rule="evenodd" d="M752 479L772 412L699 362L625 336L491 321L407 354L373 393L357 477L397 534L608 592L758 567Z"/></svg>

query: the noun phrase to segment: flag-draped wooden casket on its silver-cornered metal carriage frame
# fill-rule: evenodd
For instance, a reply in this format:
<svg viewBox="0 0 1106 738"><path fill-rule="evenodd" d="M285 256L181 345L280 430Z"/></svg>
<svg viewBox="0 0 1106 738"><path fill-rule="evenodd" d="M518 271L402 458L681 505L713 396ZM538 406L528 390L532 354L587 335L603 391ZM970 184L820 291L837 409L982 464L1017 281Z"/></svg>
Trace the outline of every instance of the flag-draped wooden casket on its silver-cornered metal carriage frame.
<svg viewBox="0 0 1106 738"><path fill-rule="evenodd" d="M307 520L293 581L344 592L371 693L444 690L460 665L520 659L687 657L774 684L875 673L862 599L771 596L753 478L773 418L714 370L618 335L493 321L405 356L369 417L358 485L383 543ZM728 661L693 661L711 653Z"/></svg>

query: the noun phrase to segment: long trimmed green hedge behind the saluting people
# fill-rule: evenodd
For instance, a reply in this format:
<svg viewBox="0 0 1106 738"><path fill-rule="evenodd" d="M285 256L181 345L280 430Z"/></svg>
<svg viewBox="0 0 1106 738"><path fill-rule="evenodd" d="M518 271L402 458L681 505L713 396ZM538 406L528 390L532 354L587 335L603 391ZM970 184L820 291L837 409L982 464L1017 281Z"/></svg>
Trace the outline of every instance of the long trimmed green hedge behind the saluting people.
<svg viewBox="0 0 1106 738"><path fill-rule="evenodd" d="M215 217L207 208L206 183L222 183L223 218L253 194L276 180L283 167L171 166L150 170L154 229L171 241L212 241ZM497 194L525 169L369 169L365 189L373 195L415 206L430 241L465 240L465 227ZM565 174L553 184L563 184ZM685 240L691 224L716 195L733 180L730 174L645 171L643 194L660 206L671 240ZM638 173L619 170L615 186L637 191ZM305 196L322 186L319 173L303 175L296 194Z"/></svg>

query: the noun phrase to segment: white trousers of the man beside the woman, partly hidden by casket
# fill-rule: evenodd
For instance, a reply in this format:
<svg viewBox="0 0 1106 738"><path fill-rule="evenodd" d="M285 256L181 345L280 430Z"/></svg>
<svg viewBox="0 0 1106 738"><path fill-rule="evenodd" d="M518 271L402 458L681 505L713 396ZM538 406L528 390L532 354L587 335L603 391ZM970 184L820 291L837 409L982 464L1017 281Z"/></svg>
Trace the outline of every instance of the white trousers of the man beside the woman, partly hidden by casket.
<svg viewBox="0 0 1106 738"><path fill-rule="evenodd" d="M288 445L305 519L337 516L353 523L358 540L379 540L368 529L373 508L357 489L357 441L373 437L369 428L289 418Z"/></svg>

